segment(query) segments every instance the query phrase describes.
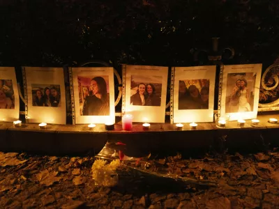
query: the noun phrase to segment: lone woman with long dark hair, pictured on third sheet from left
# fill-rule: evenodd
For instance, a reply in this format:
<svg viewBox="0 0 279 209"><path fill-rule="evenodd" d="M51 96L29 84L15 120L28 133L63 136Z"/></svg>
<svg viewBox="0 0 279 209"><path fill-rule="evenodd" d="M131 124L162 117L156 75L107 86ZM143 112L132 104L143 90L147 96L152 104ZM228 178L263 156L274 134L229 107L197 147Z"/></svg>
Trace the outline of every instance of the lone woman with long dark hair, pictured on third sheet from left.
<svg viewBox="0 0 279 209"><path fill-rule="evenodd" d="M83 116L109 116L110 97L107 93L107 84L103 77L94 77L91 80L92 95L85 98Z"/></svg>

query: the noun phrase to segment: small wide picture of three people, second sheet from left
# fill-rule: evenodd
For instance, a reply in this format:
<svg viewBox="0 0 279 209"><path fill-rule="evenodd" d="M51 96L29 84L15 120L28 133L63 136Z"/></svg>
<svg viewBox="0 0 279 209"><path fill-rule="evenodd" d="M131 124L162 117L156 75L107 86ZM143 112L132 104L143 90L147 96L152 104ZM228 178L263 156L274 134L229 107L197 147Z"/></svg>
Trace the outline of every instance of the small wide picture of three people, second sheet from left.
<svg viewBox="0 0 279 209"><path fill-rule="evenodd" d="M37 107L61 107L60 85L31 84L32 105Z"/></svg>

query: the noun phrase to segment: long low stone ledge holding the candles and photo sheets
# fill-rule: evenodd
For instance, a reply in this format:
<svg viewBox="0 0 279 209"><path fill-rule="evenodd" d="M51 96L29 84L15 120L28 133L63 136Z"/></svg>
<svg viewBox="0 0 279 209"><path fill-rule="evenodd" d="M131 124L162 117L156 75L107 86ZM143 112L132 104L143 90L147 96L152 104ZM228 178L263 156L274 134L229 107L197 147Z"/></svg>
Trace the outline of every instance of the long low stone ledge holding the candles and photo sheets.
<svg viewBox="0 0 279 209"><path fill-rule="evenodd" d="M164 150L195 152L223 147L260 150L264 148L263 144L279 146L279 123L268 123L269 118L276 117L278 115L258 116L260 123L256 127L247 120L243 127L232 121L225 128L218 128L215 123L198 123L197 130L190 130L186 123L179 131L169 123L151 124L150 130L143 130L142 123L135 123L133 131L123 131L121 123L116 123L113 131L106 131L103 124L97 125L94 130L89 130L87 125L47 125L42 130L38 124L13 127L12 123L1 123L0 150L50 155L98 153L109 140L126 144L127 155Z"/></svg>

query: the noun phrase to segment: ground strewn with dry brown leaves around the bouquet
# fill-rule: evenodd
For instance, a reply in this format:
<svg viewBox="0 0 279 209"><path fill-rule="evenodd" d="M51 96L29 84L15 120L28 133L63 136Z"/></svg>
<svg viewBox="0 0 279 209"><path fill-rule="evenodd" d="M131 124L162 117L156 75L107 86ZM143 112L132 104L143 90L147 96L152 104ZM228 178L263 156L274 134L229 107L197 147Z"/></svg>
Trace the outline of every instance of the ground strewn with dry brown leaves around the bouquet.
<svg viewBox="0 0 279 209"><path fill-rule="evenodd" d="M93 157L0 153L0 208L279 208L279 153L167 159L170 173L217 187L119 176L92 179Z"/></svg>

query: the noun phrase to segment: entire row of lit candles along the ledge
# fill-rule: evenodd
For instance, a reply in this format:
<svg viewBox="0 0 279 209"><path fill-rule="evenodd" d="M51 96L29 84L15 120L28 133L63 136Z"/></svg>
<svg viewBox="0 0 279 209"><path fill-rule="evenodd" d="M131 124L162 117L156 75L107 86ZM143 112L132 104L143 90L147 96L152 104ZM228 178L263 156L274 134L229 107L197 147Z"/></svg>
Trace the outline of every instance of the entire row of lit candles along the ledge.
<svg viewBox="0 0 279 209"><path fill-rule="evenodd" d="M258 125L259 120L258 119L252 119L251 120L252 125ZM238 125L245 125L246 121L239 119L237 121ZM269 118L269 123L278 123L278 119L276 118ZM22 125L22 121L13 121L13 125L15 127L20 127ZM190 129L197 129L197 123L190 123ZM149 123L144 123L142 124L142 129L143 130L149 130L150 129L150 124ZM176 124L176 130L183 130L183 124L182 123L177 123ZM226 126L226 120L223 118L220 118L218 121L218 126L219 127L225 127ZM47 123L40 123L39 124L40 129L45 129L47 127ZM96 124L89 124L88 125L89 130L93 130L94 127L96 127ZM126 114L122 117L122 129L130 131L133 128L133 116L130 114ZM105 123L105 130L114 130L114 123Z"/></svg>

